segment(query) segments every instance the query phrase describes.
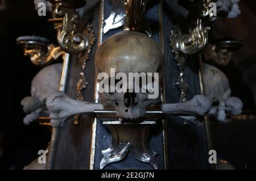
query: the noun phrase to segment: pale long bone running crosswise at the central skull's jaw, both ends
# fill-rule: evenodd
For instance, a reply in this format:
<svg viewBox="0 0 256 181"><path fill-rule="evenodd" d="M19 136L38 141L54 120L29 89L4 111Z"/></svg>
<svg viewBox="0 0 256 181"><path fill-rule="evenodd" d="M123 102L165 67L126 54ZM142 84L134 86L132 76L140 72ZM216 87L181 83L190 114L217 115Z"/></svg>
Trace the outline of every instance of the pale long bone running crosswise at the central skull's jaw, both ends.
<svg viewBox="0 0 256 181"><path fill-rule="evenodd" d="M78 113L91 113L104 110L102 104L83 102L69 98L64 92L56 91L48 96L46 106L50 112L51 126L61 127L64 121ZM205 115L210 110L210 102L203 95L196 95L186 103L163 104L164 113L182 115L192 119L193 116Z"/></svg>

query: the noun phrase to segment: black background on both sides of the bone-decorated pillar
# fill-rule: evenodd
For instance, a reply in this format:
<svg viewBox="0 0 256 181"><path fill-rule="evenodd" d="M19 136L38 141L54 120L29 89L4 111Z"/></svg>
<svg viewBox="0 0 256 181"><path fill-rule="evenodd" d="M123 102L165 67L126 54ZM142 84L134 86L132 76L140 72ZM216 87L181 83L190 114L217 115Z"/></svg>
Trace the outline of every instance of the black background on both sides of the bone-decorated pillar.
<svg viewBox="0 0 256 181"><path fill-rule="evenodd" d="M1 2L1 1L0 1ZM25 126L26 115L20 101L30 95L32 78L41 69L32 65L16 46L16 37L44 36L56 43L56 32L47 19L39 17L32 0L6 1L0 10L1 96L3 106L0 120L0 169L23 169L35 159L38 150L46 149L51 133L46 127L32 123ZM230 80L233 95L244 103L245 113L255 115L256 103L256 2L241 0L242 15L236 19L218 19L212 35L234 37L245 46L222 70ZM237 169L256 169L256 120L246 119L229 124L214 125L214 149Z"/></svg>

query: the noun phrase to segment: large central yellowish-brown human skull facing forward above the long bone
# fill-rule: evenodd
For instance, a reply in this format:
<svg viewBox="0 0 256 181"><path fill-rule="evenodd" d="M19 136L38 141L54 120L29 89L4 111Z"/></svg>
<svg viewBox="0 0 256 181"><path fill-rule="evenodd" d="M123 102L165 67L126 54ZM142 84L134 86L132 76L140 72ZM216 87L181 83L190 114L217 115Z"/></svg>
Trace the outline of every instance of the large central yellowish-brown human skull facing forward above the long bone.
<svg viewBox="0 0 256 181"><path fill-rule="evenodd" d="M106 73L110 75L110 78L113 78L110 69L114 68L115 75L124 73L127 78L129 73L147 75L159 73L159 79L162 79L160 71L163 61L162 49L153 39L143 33L123 31L109 37L98 47L95 61L97 73ZM135 86L134 79L128 79L127 87L131 81ZM159 89L156 83L154 86ZM159 102L160 91L157 98L148 99L148 95L152 94L151 91L142 92L142 87L139 87L139 92L134 89L135 87L133 90L123 92L99 92L100 101L104 106L114 107L118 117L138 119L145 115L147 106Z"/></svg>

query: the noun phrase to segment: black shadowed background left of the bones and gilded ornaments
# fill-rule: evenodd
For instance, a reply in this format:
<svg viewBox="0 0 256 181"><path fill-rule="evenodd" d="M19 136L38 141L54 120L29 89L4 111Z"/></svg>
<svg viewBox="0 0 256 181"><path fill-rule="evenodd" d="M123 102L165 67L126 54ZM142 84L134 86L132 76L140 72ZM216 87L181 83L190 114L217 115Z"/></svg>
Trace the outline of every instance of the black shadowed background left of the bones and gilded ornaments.
<svg viewBox="0 0 256 181"><path fill-rule="evenodd" d="M50 16L39 17L33 1L11 0L7 9L0 11L0 60L1 95L3 106L0 120L0 146L3 155L0 169L23 169L37 157L38 150L45 150L51 133L48 128L32 123L23 124L26 114L20 101L30 95L32 78L41 69L32 65L29 57L16 46L16 38L24 35L38 35L56 39ZM1 141L2 140L2 141Z"/></svg>

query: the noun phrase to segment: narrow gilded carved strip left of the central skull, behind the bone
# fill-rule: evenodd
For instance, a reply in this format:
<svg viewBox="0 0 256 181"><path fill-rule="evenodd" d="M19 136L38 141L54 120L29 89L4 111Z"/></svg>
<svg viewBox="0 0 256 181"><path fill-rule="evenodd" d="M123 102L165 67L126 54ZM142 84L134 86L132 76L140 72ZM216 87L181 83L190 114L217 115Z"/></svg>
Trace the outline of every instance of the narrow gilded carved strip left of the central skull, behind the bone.
<svg viewBox="0 0 256 181"><path fill-rule="evenodd" d="M79 74L79 81L77 82L77 85L76 85L77 100L84 100L83 91L85 90L86 85L88 84L88 82L86 81L84 71L86 68L86 61L89 60L90 51L91 51L92 46L96 40L94 31L92 30L92 24L88 24L87 28L85 28L85 30L82 34L84 36L88 37L88 46L87 46L85 52L80 53L79 57L78 57L79 65L81 66L82 71ZM80 115L75 115L74 117L75 117L74 125L79 125Z"/></svg>

